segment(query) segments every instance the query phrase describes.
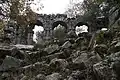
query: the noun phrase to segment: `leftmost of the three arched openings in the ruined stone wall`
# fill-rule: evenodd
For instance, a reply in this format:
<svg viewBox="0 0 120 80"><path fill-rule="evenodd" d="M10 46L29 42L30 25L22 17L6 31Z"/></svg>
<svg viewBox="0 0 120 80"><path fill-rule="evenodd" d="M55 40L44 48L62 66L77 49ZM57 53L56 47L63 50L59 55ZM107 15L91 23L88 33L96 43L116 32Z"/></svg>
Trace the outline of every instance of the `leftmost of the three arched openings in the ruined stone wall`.
<svg viewBox="0 0 120 80"><path fill-rule="evenodd" d="M43 39L44 36L44 26L40 20L37 20L33 26L33 41L35 43L39 42L39 40Z"/></svg>

